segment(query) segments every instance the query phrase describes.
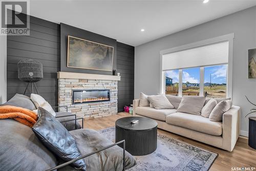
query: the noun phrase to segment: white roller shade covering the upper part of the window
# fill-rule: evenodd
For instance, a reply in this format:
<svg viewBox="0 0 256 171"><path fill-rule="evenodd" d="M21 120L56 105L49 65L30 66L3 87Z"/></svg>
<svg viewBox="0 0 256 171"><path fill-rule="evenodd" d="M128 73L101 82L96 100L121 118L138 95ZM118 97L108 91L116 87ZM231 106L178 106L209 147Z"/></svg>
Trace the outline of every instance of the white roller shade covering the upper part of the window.
<svg viewBox="0 0 256 171"><path fill-rule="evenodd" d="M228 41L162 55L162 70L228 63Z"/></svg>

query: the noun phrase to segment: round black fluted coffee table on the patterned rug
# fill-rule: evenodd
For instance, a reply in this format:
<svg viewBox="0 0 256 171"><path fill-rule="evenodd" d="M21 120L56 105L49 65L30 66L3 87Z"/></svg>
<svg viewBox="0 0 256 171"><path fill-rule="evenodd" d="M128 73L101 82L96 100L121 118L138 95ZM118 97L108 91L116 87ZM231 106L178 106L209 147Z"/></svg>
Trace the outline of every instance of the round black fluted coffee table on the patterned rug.
<svg viewBox="0 0 256 171"><path fill-rule="evenodd" d="M139 120L132 124L130 121ZM148 155L157 149L157 122L144 117L125 117L116 121L116 142L125 140L125 150L133 156ZM119 145L122 147L122 144Z"/></svg>

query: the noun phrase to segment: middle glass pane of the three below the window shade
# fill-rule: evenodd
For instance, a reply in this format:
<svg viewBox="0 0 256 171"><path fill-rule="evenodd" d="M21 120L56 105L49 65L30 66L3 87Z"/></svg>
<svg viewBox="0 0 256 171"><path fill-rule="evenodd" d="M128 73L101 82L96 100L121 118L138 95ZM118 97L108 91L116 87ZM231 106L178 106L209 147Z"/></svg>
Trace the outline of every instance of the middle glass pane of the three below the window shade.
<svg viewBox="0 0 256 171"><path fill-rule="evenodd" d="M182 70L182 96L199 96L200 68Z"/></svg>

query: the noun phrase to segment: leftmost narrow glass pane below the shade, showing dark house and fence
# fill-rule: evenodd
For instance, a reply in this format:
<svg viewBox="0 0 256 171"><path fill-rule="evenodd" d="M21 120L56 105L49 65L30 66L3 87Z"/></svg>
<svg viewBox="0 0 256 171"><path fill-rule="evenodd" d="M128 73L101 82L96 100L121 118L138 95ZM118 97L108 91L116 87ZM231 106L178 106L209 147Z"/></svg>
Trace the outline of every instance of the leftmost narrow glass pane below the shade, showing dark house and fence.
<svg viewBox="0 0 256 171"><path fill-rule="evenodd" d="M165 71L165 94L179 95L179 70Z"/></svg>

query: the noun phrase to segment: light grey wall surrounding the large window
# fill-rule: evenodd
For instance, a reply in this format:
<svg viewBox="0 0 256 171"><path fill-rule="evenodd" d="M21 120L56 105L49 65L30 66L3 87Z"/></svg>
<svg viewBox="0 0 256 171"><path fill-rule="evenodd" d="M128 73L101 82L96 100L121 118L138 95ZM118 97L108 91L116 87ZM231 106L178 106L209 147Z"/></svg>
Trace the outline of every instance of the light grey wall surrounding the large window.
<svg viewBox="0 0 256 171"><path fill-rule="evenodd" d="M242 108L241 135L247 136L248 118L244 116L252 106L245 95L256 101L256 79L248 79L248 49L256 48L255 6L135 47L135 98L140 92L148 95L159 93L161 50L229 33L234 33L233 104Z"/></svg>

